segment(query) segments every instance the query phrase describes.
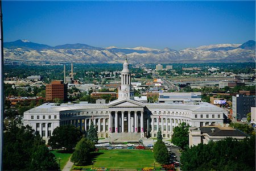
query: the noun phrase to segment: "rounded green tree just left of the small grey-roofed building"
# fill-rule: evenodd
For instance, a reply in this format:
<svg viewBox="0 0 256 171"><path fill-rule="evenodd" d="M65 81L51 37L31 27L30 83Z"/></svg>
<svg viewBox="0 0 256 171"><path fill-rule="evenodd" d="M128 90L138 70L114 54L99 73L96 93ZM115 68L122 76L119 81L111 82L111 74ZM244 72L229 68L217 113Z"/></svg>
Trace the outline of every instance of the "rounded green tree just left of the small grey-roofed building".
<svg viewBox="0 0 256 171"><path fill-rule="evenodd" d="M181 149L188 147L188 128L189 125L186 125L184 122L179 124L178 127L174 128L172 143L179 146Z"/></svg>

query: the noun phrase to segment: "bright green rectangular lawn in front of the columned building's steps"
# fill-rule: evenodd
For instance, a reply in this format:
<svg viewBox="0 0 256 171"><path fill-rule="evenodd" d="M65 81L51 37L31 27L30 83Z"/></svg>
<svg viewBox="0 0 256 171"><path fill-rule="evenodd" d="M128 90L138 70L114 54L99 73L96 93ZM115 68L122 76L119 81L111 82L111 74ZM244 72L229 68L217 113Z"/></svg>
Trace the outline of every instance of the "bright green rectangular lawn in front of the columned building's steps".
<svg viewBox="0 0 256 171"><path fill-rule="evenodd" d="M94 168L142 169L154 166L154 153L151 150L102 149L94 155ZM155 166L160 168L158 163ZM92 165L85 166L85 168L92 168Z"/></svg>

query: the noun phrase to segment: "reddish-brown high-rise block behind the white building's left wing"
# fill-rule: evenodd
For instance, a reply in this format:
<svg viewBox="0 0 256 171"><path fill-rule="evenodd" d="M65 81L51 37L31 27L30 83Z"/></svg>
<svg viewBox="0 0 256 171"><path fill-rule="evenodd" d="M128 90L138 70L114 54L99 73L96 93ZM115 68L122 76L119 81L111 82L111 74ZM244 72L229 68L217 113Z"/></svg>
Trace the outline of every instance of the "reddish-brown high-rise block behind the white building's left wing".
<svg viewBox="0 0 256 171"><path fill-rule="evenodd" d="M52 81L46 85L46 101L53 101L55 98L65 101L67 99L67 84L63 81Z"/></svg>

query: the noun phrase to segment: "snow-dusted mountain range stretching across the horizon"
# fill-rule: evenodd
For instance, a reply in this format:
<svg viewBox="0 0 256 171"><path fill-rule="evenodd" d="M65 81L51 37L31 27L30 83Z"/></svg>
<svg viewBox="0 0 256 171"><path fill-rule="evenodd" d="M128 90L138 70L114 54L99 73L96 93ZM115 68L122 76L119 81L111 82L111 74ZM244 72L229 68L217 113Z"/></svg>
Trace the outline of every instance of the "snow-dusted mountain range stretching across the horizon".
<svg viewBox="0 0 256 171"><path fill-rule="evenodd" d="M243 44L203 45L180 51L147 47L100 48L79 43L51 47L28 40L6 42L3 46L5 60L18 61L121 63L127 56L130 63L255 62L254 40Z"/></svg>

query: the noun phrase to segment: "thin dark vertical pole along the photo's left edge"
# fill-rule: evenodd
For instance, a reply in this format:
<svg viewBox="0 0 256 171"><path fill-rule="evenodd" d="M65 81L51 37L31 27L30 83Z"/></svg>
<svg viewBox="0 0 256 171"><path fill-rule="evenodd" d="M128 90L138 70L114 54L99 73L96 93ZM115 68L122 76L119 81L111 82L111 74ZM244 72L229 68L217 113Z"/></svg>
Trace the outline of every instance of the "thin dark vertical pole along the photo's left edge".
<svg viewBox="0 0 256 171"><path fill-rule="evenodd" d="M3 15L2 15L2 1L0 0L0 170L3 170L3 101L5 95L3 94Z"/></svg>

